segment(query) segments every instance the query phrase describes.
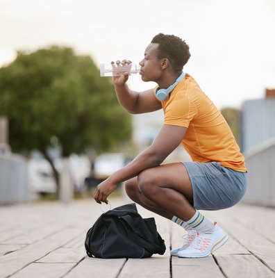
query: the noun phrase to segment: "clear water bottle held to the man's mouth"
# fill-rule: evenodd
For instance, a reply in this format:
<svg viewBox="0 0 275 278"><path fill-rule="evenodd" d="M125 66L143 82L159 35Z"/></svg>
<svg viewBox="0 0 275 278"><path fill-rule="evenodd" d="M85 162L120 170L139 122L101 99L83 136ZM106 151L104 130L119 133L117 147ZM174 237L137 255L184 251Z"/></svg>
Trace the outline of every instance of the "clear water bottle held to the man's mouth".
<svg viewBox="0 0 275 278"><path fill-rule="evenodd" d="M135 75L140 73L140 65L138 64L100 64L100 76L121 76L125 72L129 75Z"/></svg>

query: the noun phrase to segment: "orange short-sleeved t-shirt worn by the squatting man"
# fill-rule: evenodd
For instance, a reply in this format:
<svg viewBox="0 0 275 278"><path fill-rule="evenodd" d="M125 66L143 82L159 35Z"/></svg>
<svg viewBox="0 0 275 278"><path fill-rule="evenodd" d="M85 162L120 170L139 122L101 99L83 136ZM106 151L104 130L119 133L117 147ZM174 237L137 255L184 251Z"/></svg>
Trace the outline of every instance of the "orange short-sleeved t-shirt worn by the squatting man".
<svg viewBox="0 0 275 278"><path fill-rule="evenodd" d="M189 74L161 101L164 124L185 126L182 145L193 161L219 162L239 172L247 172L244 156L222 113Z"/></svg>

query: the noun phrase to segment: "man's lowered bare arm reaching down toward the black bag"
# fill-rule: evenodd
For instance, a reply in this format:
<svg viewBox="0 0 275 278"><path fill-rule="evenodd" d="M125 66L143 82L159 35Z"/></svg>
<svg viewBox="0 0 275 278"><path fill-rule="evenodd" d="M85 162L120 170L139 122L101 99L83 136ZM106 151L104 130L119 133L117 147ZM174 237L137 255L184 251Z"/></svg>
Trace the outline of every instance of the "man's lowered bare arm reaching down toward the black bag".
<svg viewBox="0 0 275 278"><path fill-rule="evenodd" d="M165 124L150 147L97 186L94 199L99 204L108 203L107 197L115 190L117 183L131 179L145 169L160 165L180 145L186 130L186 127Z"/></svg>

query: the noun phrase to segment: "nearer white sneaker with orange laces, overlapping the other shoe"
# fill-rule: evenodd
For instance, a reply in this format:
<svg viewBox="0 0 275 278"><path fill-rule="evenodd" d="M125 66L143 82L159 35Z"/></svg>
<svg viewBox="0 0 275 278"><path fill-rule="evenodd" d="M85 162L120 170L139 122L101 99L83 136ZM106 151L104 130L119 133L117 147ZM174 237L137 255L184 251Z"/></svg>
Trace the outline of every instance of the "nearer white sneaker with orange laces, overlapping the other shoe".
<svg viewBox="0 0 275 278"><path fill-rule="evenodd" d="M215 224L213 234L197 234L192 243L184 250L179 250L177 256L182 258L202 258L212 254L228 240L228 235Z"/></svg>

